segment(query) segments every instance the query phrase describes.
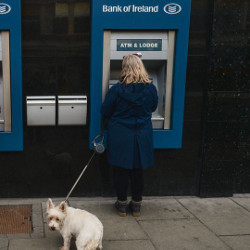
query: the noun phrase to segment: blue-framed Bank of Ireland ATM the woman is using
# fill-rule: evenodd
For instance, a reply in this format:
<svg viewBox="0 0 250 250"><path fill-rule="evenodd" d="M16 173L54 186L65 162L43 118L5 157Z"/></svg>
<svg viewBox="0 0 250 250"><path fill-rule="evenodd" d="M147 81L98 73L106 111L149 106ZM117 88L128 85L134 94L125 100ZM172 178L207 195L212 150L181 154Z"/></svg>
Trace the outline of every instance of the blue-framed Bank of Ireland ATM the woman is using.
<svg viewBox="0 0 250 250"><path fill-rule="evenodd" d="M92 0L90 145L100 108L118 82L124 55L141 53L158 91L154 148L181 148L190 0Z"/></svg>

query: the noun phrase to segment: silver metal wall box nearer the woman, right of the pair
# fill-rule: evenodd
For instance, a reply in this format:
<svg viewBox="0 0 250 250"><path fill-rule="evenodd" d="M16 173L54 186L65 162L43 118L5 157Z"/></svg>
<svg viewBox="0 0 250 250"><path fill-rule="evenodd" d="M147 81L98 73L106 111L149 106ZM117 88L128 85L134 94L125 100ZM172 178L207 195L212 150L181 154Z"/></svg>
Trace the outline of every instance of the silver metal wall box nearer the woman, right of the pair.
<svg viewBox="0 0 250 250"><path fill-rule="evenodd" d="M86 125L87 96L58 96L58 125Z"/></svg>

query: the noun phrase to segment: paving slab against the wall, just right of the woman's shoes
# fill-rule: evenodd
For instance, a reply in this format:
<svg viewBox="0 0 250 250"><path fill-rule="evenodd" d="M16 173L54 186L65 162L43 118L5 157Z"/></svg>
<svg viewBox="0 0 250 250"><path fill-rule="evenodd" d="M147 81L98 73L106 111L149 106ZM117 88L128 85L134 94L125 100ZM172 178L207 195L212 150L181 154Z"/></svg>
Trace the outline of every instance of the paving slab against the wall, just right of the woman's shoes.
<svg viewBox="0 0 250 250"><path fill-rule="evenodd" d="M175 199L153 199L144 200L141 207L141 216L138 220L149 219L178 219L192 218L188 212Z"/></svg>

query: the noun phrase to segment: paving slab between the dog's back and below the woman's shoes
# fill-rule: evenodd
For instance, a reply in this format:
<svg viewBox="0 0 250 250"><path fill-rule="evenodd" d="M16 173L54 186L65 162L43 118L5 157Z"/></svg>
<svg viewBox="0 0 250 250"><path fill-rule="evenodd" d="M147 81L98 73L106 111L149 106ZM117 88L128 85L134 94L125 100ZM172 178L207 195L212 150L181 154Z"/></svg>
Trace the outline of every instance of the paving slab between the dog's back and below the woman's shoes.
<svg viewBox="0 0 250 250"><path fill-rule="evenodd" d="M120 218L117 220L104 220L104 240L145 240L148 239L140 225L135 220Z"/></svg>

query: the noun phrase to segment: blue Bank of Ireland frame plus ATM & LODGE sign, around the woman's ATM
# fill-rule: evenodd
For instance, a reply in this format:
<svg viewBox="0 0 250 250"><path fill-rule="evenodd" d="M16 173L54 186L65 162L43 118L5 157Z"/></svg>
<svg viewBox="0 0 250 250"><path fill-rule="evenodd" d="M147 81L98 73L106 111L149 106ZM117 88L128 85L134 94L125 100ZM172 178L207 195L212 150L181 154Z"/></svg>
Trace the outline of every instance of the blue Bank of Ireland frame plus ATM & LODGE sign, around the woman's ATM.
<svg viewBox="0 0 250 250"><path fill-rule="evenodd" d="M182 146L190 9L191 0L92 0L90 145L101 130L104 32L175 31L171 126L170 129L155 129L153 135L155 148ZM163 43L153 41L154 37L150 38L152 41L150 39L136 41L129 37L121 39L123 40L118 39L115 44L115 49L120 53L123 50L136 51L135 47L140 42L145 47L138 51L148 50L145 53L159 53L163 50ZM125 46L129 48L125 49Z"/></svg>

